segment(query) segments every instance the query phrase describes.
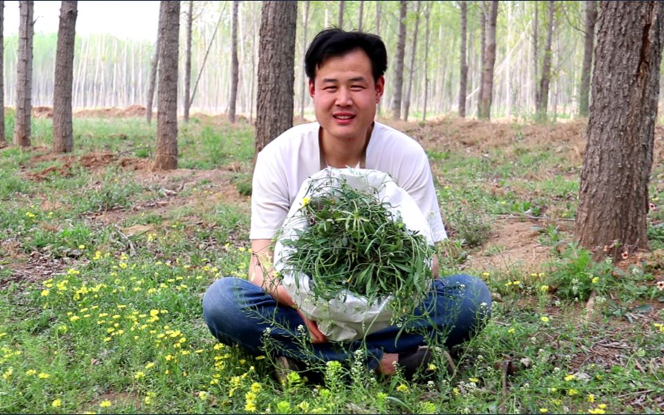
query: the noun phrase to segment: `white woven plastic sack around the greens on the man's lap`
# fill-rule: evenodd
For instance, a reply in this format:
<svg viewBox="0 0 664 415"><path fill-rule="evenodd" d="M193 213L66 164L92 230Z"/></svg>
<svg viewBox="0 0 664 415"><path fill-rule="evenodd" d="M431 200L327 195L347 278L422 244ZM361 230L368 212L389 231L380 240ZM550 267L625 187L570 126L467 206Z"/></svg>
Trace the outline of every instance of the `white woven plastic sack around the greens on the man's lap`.
<svg viewBox="0 0 664 415"><path fill-rule="evenodd" d="M423 234L431 245L433 245L432 234L417 203L385 172L372 169L328 167L313 174L302 183L275 244L275 270L282 275L282 285L300 311L310 320L317 322L318 328L329 340L358 340L389 326L391 311L387 308L387 304L391 296L374 304L369 304L365 297L353 295L349 291L340 292L331 300L316 299L313 293L310 293L308 275L284 270L286 259L293 248L284 246L282 241L296 239L295 231L308 226L308 221L301 210L302 200L305 197L314 199L316 196L328 194L320 186L310 186L312 181L320 183L320 180L324 178L329 178L331 184L338 184L338 179L345 180L356 190L373 192L374 189L377 189L378 199L381 202L389 203L391 210L401 217L408 230Z"/></svg>

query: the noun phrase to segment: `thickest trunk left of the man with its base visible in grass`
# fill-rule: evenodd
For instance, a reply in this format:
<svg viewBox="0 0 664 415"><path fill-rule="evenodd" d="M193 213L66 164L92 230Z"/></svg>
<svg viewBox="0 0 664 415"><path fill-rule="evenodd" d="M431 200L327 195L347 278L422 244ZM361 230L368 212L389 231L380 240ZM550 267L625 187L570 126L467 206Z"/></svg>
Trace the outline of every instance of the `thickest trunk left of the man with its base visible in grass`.
<svg viewBox="0 0 664 415"><path fill-rule="evenodd" d="M178 167L178 42L180 2L162 0L159 8L159 88L155 170Z"/></svg>

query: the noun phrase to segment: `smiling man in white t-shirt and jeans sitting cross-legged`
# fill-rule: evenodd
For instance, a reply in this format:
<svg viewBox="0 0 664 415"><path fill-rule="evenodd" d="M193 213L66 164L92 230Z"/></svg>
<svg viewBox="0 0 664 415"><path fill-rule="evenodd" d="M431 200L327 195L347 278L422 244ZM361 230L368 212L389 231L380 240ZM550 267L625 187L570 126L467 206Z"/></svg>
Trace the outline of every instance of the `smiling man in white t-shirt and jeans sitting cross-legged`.
<svg viewBox="0 0 664 415"><path fill-rule="evenodd" d="M348 360L364 348L367 365L407 377L432 359L423 346L441 337L445 346L470 338L490 315L491 296L481 280L468 275L436 279L422 304L421 318L400 333L388 327L365 342L329 342L315 321L297 310L284 287L275 283L272 238L294 202L302 182L325 167L362 167L387 172L416 201L435 241L445 239L429 161L415 140L374 121L385 91L387 53L380 37L328 29L319 33L305 57L309 93L317 122L289 129L259 154L252 181L249 278L223 278L205 293L203 313L212 334L262 353L266 342L275 353L294 360ZM433 273L438 275L434 257ZM425 317L426 316L426 317ZM311 344L298 339L306 327ZM306 347L305 347L306 346ZM291 360L292 362L292 360ZM396 365L395 365L396 364Z"/></svg>

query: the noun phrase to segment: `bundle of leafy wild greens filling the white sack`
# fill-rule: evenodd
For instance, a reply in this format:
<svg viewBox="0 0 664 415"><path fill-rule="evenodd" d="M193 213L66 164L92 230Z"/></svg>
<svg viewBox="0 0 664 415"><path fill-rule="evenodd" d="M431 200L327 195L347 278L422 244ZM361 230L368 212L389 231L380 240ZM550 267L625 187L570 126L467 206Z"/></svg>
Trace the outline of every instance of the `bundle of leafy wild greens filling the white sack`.
<svg viewBox="0 0 664 415"><path fill-rule="evenodd" d="M434 248L409 230L376 188L356 190L346 181L313 182L324 192L302 199L308 225L285 239L284 270L308 275L316 299L352 293L376 304L390 297L393 317L412 313L433 279Z"/></svg>

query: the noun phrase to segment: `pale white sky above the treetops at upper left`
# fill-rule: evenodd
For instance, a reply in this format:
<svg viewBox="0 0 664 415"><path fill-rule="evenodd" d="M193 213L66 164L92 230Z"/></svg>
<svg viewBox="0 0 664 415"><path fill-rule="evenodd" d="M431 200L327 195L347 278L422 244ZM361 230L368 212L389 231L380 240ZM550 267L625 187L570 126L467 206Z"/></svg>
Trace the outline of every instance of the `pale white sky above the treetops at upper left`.
<svg viewBox="0 0 664 415"><path fill-rule="evenodd" d="M5 1L4 34L19 30L19 2ZM35 33L57 33L60 1L35 1ZM159 1L80 0L77 35L107 33L120 39L149 40L157 37Z"/></svg>

